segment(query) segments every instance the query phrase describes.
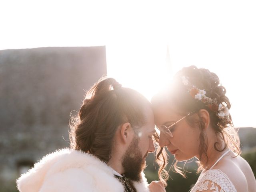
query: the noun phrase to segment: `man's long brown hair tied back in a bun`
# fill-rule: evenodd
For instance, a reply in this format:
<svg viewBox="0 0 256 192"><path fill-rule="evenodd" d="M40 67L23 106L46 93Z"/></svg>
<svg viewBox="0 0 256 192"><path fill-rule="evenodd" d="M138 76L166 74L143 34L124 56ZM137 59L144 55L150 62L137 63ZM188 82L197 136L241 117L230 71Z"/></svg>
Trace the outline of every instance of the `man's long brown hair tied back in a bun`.
<svg viewBox="0 0 256 192"><path fill-rule="evenodd" d="M125 122L132 128L144 125L147 106L150 102L135 90L113 78L100 80L86 93L78 115L71 118L70 148L108 162L118 126Z"/></svg>

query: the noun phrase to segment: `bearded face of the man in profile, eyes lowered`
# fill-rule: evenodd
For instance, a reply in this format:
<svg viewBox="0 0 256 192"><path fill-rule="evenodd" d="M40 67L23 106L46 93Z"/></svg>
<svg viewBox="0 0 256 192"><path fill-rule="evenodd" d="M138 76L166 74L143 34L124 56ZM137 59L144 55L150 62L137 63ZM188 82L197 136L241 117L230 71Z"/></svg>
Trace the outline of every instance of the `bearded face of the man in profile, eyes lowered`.
<svg viewBox="0 0 256 192"><path fill-rule="evenodd" d="M152 134L154 129L154 115L152 110L146 112L146 124L136 130L136 134L126 150L122 166L125 170L125 176L134 180L141 180L141 172L146 167L146 157L148 153L155 150Z"/></svg>

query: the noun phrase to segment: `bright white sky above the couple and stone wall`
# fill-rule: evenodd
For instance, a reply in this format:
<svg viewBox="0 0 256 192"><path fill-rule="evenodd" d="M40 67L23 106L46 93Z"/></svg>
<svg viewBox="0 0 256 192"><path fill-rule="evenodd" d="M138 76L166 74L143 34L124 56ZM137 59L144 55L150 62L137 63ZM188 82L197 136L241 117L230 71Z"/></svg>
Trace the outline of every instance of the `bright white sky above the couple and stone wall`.
<svg viewBox="0 0 256 192"><path fill-rule="evenodd" d="M0 0L0 50L104 45L108 76L149 100L182 67L207 68L234 126L256 127L255 10L249 0Z"/></svg>

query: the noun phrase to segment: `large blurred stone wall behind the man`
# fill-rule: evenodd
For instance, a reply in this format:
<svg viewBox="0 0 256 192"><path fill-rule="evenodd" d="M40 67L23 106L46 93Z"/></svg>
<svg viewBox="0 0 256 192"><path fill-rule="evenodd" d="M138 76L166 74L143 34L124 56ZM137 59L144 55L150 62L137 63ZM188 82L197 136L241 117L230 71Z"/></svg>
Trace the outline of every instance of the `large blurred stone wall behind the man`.
<svg viewBox="0 0 256 192"><path fill-rule="evenodd" d="M105 46L0 51L1 192L16 191L22 172L69 146L70 112L106 73Z"/></svg>

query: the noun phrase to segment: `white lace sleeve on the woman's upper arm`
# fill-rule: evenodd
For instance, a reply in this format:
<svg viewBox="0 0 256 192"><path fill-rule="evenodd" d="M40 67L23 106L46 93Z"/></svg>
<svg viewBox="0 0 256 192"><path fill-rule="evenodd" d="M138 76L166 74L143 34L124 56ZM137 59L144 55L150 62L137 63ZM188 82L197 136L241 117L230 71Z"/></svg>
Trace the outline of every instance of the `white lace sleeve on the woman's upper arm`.
<svg viewBox="0 0 256 192"><path fill-rule="evenodd" d="M200 175L191 192L236 192L236 188L221 170L208 170Z"/></svg>

